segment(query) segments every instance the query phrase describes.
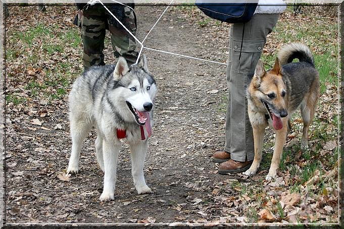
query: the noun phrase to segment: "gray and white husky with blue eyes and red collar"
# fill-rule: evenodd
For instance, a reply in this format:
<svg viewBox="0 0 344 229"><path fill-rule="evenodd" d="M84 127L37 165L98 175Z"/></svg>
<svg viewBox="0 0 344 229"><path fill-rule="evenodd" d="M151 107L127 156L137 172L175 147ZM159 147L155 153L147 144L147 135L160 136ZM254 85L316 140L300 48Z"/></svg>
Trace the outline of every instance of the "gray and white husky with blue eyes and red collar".
<svg viewBox="0 0 344 229"><path fill-rule="evenodd" d="M72 152L67 174L78 173L81 144L96 126L95 152L104 171L101 201L114 199L119 138L127 138L131 172L138 194L152 193L143 176L143 163L153 125L153 101L157 86L143 55L138 64L91 67L73 84L69 94Z"/></svg>

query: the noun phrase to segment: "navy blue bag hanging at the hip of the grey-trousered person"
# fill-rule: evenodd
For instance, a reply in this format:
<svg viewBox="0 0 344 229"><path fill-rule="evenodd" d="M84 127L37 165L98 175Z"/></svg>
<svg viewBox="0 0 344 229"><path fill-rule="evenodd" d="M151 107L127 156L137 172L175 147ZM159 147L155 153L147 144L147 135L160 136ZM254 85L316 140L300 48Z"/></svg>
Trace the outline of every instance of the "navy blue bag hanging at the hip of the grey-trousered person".
<svg viewBox="0 0 344 229"><path fill-rule="evenodd" d="M246 1L248 2L248 1ZM207 16L227 23L244 23L251 20L258 5L256 3L211 3L211 0L196 0L195 5Z"/></svg>

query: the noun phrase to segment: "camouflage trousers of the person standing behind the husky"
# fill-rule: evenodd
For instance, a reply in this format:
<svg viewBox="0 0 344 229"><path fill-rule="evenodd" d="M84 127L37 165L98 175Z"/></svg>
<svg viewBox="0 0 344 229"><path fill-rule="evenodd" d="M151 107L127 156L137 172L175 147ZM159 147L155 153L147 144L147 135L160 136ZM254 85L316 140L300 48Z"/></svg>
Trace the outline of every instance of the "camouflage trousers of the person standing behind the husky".
<svg viewBox="0 0 344 229"><path fill-rule="evenodd" d="M107 7L135 35L134 12L129 7ZM78 25L84 45L82 62L85 69L93 65L105 65L103 49L106 30L110 31L115 57L123 56L129 65L136 62L138 51L135 39L102 5L86 6L80 10Z"/></svg>

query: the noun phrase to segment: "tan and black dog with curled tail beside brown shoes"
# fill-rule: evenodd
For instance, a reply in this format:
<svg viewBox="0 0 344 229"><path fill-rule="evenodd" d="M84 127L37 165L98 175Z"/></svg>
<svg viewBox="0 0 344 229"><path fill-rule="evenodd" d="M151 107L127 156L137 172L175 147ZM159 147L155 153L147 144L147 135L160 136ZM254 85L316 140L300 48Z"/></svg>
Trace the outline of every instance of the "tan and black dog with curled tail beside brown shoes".
<svg viewBox="0 0 344 229"><path fill-rule="evenodd" d="M299 62L292 63L293 59ZM299 107L303 119L301 145L308 147L308 128L320 95L319 73L315 69L310 49L302 43L285 45L278 53L275 65L264 70L258 61L254 77L247 89L248 113L253 128L255 158L245 175L254 175L262 160L265 128L270 125L276 132L273 157L266 180L276 177L283 145L290 126L292 113Z"/></svg>

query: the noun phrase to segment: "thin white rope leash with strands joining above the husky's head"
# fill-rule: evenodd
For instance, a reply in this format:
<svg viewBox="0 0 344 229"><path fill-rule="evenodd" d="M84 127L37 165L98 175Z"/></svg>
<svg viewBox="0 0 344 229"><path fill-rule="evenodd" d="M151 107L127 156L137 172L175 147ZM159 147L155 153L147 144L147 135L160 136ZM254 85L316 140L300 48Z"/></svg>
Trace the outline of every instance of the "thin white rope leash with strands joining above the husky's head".
<svg viewBox="0 0 344 229"><path fill-rule="evenodd" d="M133 10L131 7L129 7L129 6L127 6L127 5L125 5L125 4L122 4L122 3L120 3L120 2L117 2L116 0L111 0L111 1L113 1L113 2L115 2L115 3L118 3L118 4L121 4L121 5L123 5L123 6L126 6L126 7L128 7L128 8L130 8L131 10ZM152 50L152 51L158 51L158 52L163 52L163 53L167 53L167 54L171 54L171 55L177 55L177 56L182 56L182 57L184 57L184 58L189 58L189 59L193 59L193 60L199 60L199 61L205 61L205 62L210 62L210 63L214 63L214 64L220 64L220 65L227 65L226 63L221 63L221 62L216 62L216 61L210 61L210 60L205 60L205 59L201 59L201 58L195 58L195 57L193 57L193 56L188 56L188 55L183 55L183 54L178 54L178 53L174 53L174 52L169 52L169 51L163 51L163 50L160 50L160 49L155 49L155 48L149 48L149 47L145 47L144 45L143 45L143 42L146 40L146 38L149 36L149 34L152 32L152 30L154 29L154 27L158 24L158 22L160 21L160 19L162 18L162 16L165 14L165 12L168 10L168 8L171 6L171 4L172 4L172 2L173 2L174 0L171 0L171 2L169 3L169 5L166 7L166 9L164 10L164 12L160 15L160 17L158 18L158 20L156 21L156 23L152 26L152 28L151 28L151 30L148 32L148 34L144 37L144 39L142 40L142 42L139 40L139 39L137 39L137 37L134 35L134 34L132 34L131 32L130 32L130 30L127 28L127 27L125 27L124 25L123 25L123 23L102 3L102 1L101 0L90 0L87 4L88 5L91 5L91 6L93 6L96 2L99 2L99 3L101 3L102 5L103 5L103 7L111 14L111 16L112 17L114 17L115 19L116 19L116 21L141 45L141 48L140 48L140 51L139 51L139 53L138 53L138 56L137 56L137 59L136 59L136 63L135 64L137 64L138 63L138 60L139 60L139 58L140 58L140 56L141 56L141 54L142 54L142 50L143 50L143 48L145 48L145 49L148 49L148 50Z"/></svg>

